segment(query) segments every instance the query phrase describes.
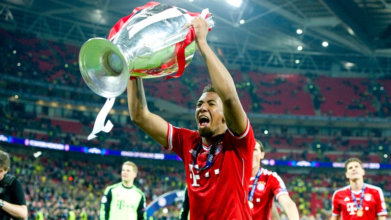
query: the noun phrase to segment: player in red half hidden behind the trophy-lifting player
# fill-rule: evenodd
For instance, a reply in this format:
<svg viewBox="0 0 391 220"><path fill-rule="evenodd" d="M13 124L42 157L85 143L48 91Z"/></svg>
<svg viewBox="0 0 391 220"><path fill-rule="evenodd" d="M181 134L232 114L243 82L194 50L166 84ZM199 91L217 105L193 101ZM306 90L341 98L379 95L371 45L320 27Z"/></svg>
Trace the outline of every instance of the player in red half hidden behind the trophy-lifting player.
<svg viewBox="0 0 391 220"><path fill-rule="evenodd" d="M253 155L253 172L248 188L248 203L253 219L272 220L272 204L274 197L288 215L289 220L299 220L299 212L285 187L284 181L277 173L261 167L265 151L260 141L256 140ZM257 184L254 185L254 182ZM254 191L254 193L252 193Z"/></svg>

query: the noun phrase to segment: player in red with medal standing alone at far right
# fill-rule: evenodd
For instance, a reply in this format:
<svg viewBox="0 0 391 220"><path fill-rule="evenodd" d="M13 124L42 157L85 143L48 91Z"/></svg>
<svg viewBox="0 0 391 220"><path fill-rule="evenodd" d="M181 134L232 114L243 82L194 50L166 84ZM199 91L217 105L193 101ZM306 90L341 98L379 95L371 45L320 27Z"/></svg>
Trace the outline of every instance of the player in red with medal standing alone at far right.
<svg viewBox="0 0 391 220"><path fill-rule="evenodd" d="M364 183L365 171L361 160L349 158L345 162L345 170L350 185L332 195L331 220L385 220L387 210L383 191Z"/></svg>

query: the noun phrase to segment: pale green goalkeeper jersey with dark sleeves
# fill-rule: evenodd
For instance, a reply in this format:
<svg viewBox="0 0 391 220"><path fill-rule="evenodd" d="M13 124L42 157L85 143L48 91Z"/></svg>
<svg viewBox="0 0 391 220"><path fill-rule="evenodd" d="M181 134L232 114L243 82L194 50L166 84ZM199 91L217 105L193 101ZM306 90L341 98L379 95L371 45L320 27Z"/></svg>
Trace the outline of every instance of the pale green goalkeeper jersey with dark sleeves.
<svg viewBox="0 0 391 220"><path fill-rule="evenodd" d="M122 183L110 185L104 190L100 205L100 220L147 219L145 195L136 186Z"/></svg>

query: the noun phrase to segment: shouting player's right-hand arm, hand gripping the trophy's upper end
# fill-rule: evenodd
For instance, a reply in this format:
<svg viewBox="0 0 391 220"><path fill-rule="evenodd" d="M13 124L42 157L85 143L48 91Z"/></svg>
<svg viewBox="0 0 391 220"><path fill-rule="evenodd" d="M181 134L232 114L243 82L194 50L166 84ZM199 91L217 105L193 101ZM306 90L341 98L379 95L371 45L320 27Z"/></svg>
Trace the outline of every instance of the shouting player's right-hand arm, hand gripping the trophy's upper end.
<svg viewBox="0 0 391 220"><path fill-rule="evenodd" d="M227 126L234 133L241 134L246 129L247 116L240 103L231 74L206 41L208 23L200 17L192 20L190 24L194 28L195 41L208 68L213 87L224 104L223 109Z"/></svg>

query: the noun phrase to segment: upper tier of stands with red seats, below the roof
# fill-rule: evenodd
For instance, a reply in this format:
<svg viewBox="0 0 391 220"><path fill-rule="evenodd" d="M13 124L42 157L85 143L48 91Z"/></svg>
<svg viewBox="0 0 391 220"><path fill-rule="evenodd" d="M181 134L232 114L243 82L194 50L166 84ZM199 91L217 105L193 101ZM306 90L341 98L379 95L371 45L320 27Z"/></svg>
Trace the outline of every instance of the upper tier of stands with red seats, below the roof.
<svg viewBox="0 0 391 220"><path fill-rule="evenodd" d="M79 46L47 41L31 34L0 30L2 74L29 79L10 79L6 90L58 101L103 103L89 91L78 67ZM197 57L197 56L195 56ZM247 112L288 115L390 117L390 78L334 78L313 73L271 74L230 70ZM202 88L210 81L205 67L189 65L179 79L144 80L147 96L192 109ZM41 82L42 84L32 83ZM61 87L63 86L63 87ZM86 92L88 91L88 92ZM195 91L188 93L188 91ZM343 91L343 92L341 92ZM198 93L197 93L198 92ZM126 107L126 101L120 103Z"/></svg>

